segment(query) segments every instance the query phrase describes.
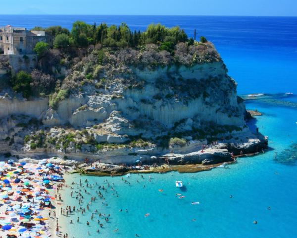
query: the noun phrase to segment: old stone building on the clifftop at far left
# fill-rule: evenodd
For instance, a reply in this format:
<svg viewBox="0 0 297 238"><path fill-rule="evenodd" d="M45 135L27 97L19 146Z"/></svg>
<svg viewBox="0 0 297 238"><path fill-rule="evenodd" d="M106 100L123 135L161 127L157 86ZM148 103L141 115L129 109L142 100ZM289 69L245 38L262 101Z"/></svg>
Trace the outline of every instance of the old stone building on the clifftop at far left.
<svg viewBox="0 0 297 238"><path fill-rule="evenodd" d="M39 41L44 41L51 46L53 38L45 31L29 31L24 27L10 25L0 27L0 54L34 54L33 49Z"/></svg>

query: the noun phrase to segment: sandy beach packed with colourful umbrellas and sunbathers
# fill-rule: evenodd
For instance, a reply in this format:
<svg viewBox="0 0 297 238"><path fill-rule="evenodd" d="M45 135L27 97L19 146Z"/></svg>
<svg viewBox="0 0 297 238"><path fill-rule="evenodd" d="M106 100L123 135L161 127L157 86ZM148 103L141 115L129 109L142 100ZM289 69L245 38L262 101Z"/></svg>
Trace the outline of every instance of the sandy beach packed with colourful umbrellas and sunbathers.
<svg viewBox="0 0 297 238"><path fill-rule="evenodd" d="M62 175L62 168L47 160L0 162L1 238L61 236L56 233L60 215L56 208L61 204Z"/></svg>

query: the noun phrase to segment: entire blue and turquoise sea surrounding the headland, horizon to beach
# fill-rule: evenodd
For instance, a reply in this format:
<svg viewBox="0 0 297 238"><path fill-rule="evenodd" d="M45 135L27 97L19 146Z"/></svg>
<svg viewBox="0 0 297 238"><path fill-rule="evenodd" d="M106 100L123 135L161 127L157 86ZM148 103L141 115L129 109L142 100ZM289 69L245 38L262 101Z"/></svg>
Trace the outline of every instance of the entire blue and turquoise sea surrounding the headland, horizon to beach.
<svg viewBox="0 0 297 238"><path fill-rule="evenodd" d="M100 190L105 200L97 199L84 215L57 214L69 238L132 238L136 234L141 238L297 237L297 17L0 15L0 25L27 28L61 25L71 29L76 20L108 25L126 22L132 30L145 30L149 23L179 25L189 37L196 29L197 36L214 43L238 83L239 95L265 94L247 100L246 106L263 114L249 125L268 136L269 149L240 158L228 168L194 174L72 175L69 186L80 179L84 186L85 179L89 186L93 184L92 189L85 187L90 194L82 191L84 207L99 185L107 192ZM176 180L183 181L183 189L175 186ZM75 189L64 191L64 204L79 207L76 193L70 196L76 190L72 186ZM109 221L97 213L92 220L95 209L110 214Z"/></svg>

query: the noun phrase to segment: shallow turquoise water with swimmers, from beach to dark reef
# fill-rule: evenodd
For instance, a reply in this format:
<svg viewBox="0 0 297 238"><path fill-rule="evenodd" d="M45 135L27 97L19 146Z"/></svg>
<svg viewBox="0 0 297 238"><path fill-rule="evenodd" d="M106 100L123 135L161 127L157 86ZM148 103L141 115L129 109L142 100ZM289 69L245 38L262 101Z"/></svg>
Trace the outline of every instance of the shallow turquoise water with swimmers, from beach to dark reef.
<svg viewBox="0 0 297 238"><path fill-rule="evenodd" d="M292 101L295 97L292 97ZM124 176L131 184L124 183L122 177L100 178L73 176L74 181L89 179L90 183L106 186L105 179L115 184L119 194L113 191L103 195L108 206L101 200L93 203L91 211L98 209L102 214L110 214L108 223L102 220L100 229L95 215L91 212L80 216L80 223L72 217L62 219L67 225L69 237L95 236L99 228L104 238L131 238L135 234L142 238L161 237L203 237L203 238L293 238L296 237L297 224L297 161L284 161L281 157L285 149L297 142L297 110L292 107L274 106L262 102L247 103L247 108L257 108L264 115L258 117L257 126L269 136L270 150L264 154L240 158L229 169L216 168L195 174L150 174ZM274 159L278 153L278 161ZM296 150L289 154L297 154ZM277 173L276 173L277 172ZM151 182L148 177L151 176ZM136 180L139 180L139 183ZM175 180L181 179L186 190L175 187ZM70 183L70 181L68 181ZM188 184L189 183L189 184ZM144 188L144 185L146 187ZM158 189L163 189L159 192ZM91 189L89 189L90 191ZM65 205L78 206L77 200L70 199L70 189L66 190ZM96 189L92 193L95 195ZM179 199L175 193L182 193ZM230 198L230 195L233 197ZM84 206L89 202L87 197ZM191 202L200 202L192 205ZM270 206L271 210L267 210ZM123 209L123 212L119 212ZM125 212L128 209L128 213ZM144 215L149 213L148 217ZM196 221L191 221L196 219ZM257 225L253 221L258 222ZM86 222L90 222L90 227ZM118 228L118 232L113 232Z"/></svg>

